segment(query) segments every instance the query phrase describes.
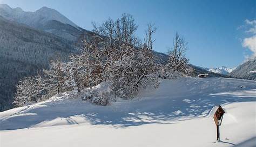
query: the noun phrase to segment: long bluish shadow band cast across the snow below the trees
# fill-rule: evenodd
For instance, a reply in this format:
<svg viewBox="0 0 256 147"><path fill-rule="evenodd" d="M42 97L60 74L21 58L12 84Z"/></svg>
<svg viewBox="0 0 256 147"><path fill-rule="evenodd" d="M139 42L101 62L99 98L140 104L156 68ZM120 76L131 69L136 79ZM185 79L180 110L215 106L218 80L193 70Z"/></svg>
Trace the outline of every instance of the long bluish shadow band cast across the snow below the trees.
<svg viewBox="0 0 256 147"><path fill-rule="evenodd" d="M144 98L112 103L110 106L95 106L77 99L59 99L44 103L44 106L16 113L0 120L0 130L40 127L63 124L90 123L113 127L140 126L143 124L171 124L181 120L205 117L212 107L231 102L255 101L253 91L219 92L172 98ZM240 95L240 96L239 96ZM242 97L241 97L242 95ZM41 104L38 104L41 105ZM33 114L33 115L32 115ZM56 121L57 120L57 121Z"/></svg>

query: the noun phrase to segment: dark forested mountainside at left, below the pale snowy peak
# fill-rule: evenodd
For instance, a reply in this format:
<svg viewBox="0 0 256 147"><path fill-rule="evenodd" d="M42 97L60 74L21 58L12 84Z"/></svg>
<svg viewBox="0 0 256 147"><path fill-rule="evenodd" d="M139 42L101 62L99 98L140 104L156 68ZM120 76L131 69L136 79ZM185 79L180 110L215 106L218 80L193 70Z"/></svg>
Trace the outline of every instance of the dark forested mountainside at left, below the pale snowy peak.
<svg viewBox="0 0 256 147"><path fill-rule="evenodd" d="M48 68L56 55L76 52L68 40L0 16L0 111L12 107L19 79Z"/></svg>

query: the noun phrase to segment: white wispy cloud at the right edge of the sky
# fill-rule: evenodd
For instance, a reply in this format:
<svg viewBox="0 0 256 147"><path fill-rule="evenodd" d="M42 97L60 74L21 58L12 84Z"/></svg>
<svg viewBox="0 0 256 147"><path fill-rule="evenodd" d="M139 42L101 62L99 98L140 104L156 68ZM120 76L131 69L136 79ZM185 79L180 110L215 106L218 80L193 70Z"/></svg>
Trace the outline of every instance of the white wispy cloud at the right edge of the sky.
<svg viewBox="0 0 256 147"><path fill-rule="evenodd" d="M256 20L245 20L245 26L248 37L242 40L242 47L248 48L253 53L251 58L256 57Z"/></svg>

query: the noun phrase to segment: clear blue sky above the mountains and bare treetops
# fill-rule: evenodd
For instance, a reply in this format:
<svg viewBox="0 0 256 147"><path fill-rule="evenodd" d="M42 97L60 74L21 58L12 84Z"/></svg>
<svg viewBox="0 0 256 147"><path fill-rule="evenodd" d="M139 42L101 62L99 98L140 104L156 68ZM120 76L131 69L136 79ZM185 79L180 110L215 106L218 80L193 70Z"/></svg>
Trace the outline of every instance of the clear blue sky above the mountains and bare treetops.
<svg viewBox="0 0 256 147"><path fill-rule="evenodd" d="M139 25L140 38L143 38L148 23L157 26L154 50L166 53L178 32L188 42L187 57L191 63L202 67L235 67L255 54L252 52L255 51L254 40L247 40L251 41L249 45L244 42L245 38L255 35L255 32L248 31L250 28L255 31L255 0L0 0L0 3L25 11L48 6L87 30L92 29L91 21L102 23L108 17L115 19L122 13L130 13Z"/></svg>

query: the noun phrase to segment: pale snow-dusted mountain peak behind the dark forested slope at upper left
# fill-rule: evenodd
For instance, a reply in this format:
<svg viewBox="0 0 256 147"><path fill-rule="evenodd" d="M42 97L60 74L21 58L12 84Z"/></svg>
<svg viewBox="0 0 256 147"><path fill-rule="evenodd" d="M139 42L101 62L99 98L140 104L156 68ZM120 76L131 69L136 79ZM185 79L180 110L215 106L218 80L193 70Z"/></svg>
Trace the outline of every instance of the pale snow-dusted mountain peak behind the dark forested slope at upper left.
<svg viewBox="0 0 256 147"><path fill-rule="evenodd" d="M47 7L35 12L25 12L21 8L12 9L6 4L0 4L0 16L73 42L76 42L85 31L63 16L63 14Z"/></svg>

